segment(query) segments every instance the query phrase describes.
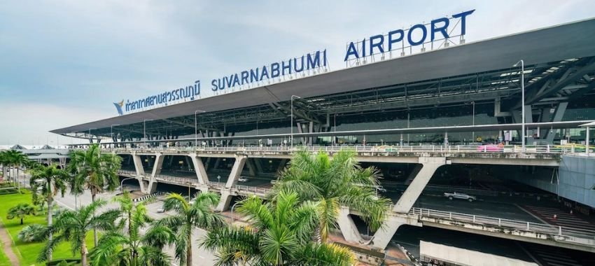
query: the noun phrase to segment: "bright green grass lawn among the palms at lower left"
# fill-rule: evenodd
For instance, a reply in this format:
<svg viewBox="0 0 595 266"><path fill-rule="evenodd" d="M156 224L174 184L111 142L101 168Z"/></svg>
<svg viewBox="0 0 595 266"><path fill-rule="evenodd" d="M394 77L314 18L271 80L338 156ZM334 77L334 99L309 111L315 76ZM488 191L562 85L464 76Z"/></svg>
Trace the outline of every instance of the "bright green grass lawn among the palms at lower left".
<svg viewBox="0 0 595 266"><path fill-rule="evenodd" d="M23 220L23 225L20 225L20 219L14 218L13 220L6 219L6 214L8 213L8 209L10 207L15 206L19 203L29 203L31 204L31 193L27 192L25 194L11 194L11 195L0 195L0 219L1 222L4 224L6 230L13 240L15 241L16 246L13 246L13 250L19 256L19 260L21 265L45 265L42 263L38 263L37 255L41 252L45 242L40 243L24 243L20 241L17 237L19 232L24 228L26 225L30 225L32 223L39 223L43 225L47 225L45 213L39 213L37 216L27 216ZM38 207L36 207L38 210ZM93 234L92 232L87 235L87 248L91 249L93 247ZM3 255L3 254L2 254ZM59 244L54 249L53 257L54 260L57 258L78 258L80 255L71 253L70 243L62 243ZM3 256L6 258L6 255ZM0 255L0 265L3 262L3 257ZM8 261L8 260L7 260Z"/></svg>

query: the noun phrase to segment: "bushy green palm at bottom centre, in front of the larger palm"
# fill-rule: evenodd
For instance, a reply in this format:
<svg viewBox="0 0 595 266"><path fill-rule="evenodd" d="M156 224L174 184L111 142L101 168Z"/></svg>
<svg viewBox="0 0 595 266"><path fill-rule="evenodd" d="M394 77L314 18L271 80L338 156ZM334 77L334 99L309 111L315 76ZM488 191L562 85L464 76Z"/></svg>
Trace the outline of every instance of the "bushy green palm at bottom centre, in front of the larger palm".
<svg viewBox="0 0 595 266"><path fill-rule="evenodd" d="M317 243L318 206L296 193L281 191L276 202L252 196L239 203L253 228L210 230L201 245L218 252L218 265L351 265L353 253L335 244Z"/></svg>

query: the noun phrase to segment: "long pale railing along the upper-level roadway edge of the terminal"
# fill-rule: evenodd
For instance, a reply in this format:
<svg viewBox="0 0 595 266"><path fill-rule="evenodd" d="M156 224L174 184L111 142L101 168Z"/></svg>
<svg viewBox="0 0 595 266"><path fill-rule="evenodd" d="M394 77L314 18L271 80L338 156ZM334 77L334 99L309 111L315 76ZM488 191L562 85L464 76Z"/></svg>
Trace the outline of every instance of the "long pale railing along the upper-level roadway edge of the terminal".
<svg viewBox="0 0 595 266"><path fill-rule="evenodd" d="M496 146L496 145L424 145L424 146L231 146L231 147L139 147L139 148L104 148L110 152L281 152L292 153L295 151L325 151L335 153L343 149L351 149L357 153L523 153L521 146ZM559 146L559 145L534 145L526 146L524 153L580 153L584 147Z"/></svg>

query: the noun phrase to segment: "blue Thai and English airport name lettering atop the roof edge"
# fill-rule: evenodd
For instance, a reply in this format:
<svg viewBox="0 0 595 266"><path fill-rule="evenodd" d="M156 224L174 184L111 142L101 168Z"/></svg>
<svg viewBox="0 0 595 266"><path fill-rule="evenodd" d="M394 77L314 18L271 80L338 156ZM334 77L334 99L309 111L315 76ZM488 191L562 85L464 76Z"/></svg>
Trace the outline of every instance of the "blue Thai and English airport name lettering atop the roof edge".
<svg viewBox="0 0 595 266"><path fill-rule="evenodd" d="M388 34L377 34L369 38L363 38L361 41L352 41L346 45L344 62L346 62L347 67L358 66L366 64L367 60L374 62L378 59L377 57L384 60L386 55L390 59L393 57L393 51L396 50L400 50L400 56L404 56L412 54L414 48L420 52L425 52L426 45L430 46L430 50L444 48L448 47L449 43L456 44L452 41L455 37L459 38L458 43L464 43L463 36L466 34L467 27L466 18L473 12L475 12L475 9L454 14L450 18L437 18L430 23L412 25L409 29L395 29L389 31ZM293 78L301 78L311 74L315 75L323 71L328 71L327 53L326 50L318 50L287 61L265 64L262 67L246 69L232 73L229 76L214 78L211 80L211 90L215 94L218 94L218 92L233 92L236 89L249 89L253 85L269 85L283 80L292 80ZM176 90L133 101L129 99L124 102L122 100L113 103L113 105L116 106L118 114L122 116L124 113L131 111L139 111L155 106L167 106L181 101L186 102L186 100L192 101L197 97L200 97L200 80Z"/></svg>

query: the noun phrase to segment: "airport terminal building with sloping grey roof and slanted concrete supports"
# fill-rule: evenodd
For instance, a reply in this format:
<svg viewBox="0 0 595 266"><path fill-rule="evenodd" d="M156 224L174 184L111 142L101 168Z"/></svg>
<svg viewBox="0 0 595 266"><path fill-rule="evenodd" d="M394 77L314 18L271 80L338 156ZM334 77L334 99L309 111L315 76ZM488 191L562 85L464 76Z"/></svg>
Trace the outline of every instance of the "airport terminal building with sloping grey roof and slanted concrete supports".
<svg viewBox="0 0 595 266"><path fill-rule="evenodd" d="M458 15L459 21L465 18ZM570 229L570 237L564 233L566 225L557 223L552 224L557 229L539 231L526 222L514 232L496 233L486 225L477 228L475 215L472 222L465 220L470 216L461 216L456 225L449 222L456 219L452 213L437 218L428 211L426 216L423 210L434 208L431 200L419 200L422 192L453 186L479 193L487 187L482 178L490 176L524 186L523 193L531 195L527 197L557 197L569 208L591 214L595 19L470 43L465 43L463 31L456 44L435 40L433 23L432 41L423 42L426 29L409 29L423 33L415 46L419 52L412 52L411 40L410 46L389 50L384 45L374 52L383 42L372 36L351 43L353 48L347 45L348 54L359 55L346 56L341 70L328 69L328 51L314 52L215 79L212 88L202 85L202 90L216 91L212 97L200 97L197 81L179 92L157 95L154 99L161 105L156 108L142 107L145 101L135 111L52 132L100 142L106 151L122 155L123 176L138 179L148 194L158 183L221 191L221 211L237 196L265 194L268 181L276 179L276 172L299 149L332 153L353 148L362 165L381 169L385 187L401 191L393 197L395 216L375 233L374 246L386 247L400 225L429 225L595 252L595 225L580 232ZM297 72L300 60L302 71ZM281 74L262 78L265 69ZM188 99L163 104L174 93ZM116 106L132 109L130 102ZM254 181L254 186L253 181L237 183L244 176L267 180ZM491 193L501 195L511 186L500 183ZM511 198L517 193L506 191ZM457 211L469 214L474 209ZM523 220L528 212L510 216ZM346 239L362 242L360 235L353 235L357 230L346 229L355 226L349 215L339 218L339 227ZM485 223L500 229L516 226L503 225L501 218Z"/></svg>

